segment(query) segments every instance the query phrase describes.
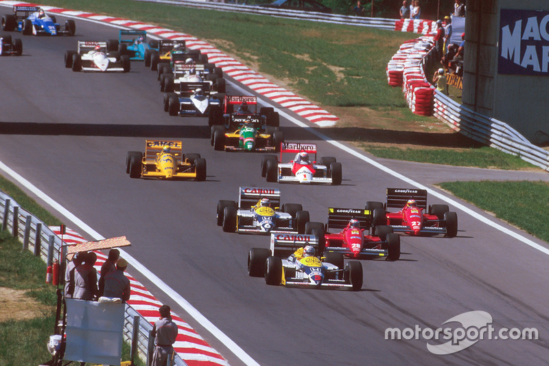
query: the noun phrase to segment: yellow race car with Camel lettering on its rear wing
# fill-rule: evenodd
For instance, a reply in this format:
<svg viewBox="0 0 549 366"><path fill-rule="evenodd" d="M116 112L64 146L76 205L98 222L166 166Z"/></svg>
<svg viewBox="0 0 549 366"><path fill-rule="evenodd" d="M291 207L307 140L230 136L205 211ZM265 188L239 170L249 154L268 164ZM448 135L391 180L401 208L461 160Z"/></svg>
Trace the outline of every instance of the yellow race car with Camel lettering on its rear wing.
<svg viewBox="0 0 549 366"><path fill-rule="evenodd" d="M145 155L129 151L126 173L130 178L206 179L206 159L182 153L181 141L146 140Z"/></svg>

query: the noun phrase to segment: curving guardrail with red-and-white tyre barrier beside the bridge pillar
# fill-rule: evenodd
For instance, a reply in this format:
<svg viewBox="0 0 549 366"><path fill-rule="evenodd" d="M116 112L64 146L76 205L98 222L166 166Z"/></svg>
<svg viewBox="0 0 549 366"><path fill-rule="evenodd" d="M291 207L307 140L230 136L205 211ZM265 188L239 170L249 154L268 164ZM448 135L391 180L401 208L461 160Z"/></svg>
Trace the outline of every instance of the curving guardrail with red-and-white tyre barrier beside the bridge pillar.
<svg viewBox="0 0 549 366"><path fill-rule="evenodd" d="M425 98L410 97L410 93L417 93L421 89L433 89L432 99L429 103L430 111L418 114L430 115L432 113L452 129L471 139L503 152L517 155L524 161L549 171L548 151L531 144L508 124L472 111L447 95L434 90L425 77L425 69L434 59L432 44L430 36L417 38L414 42L402 45L399 52L388 62L388 82L394 87L399 85L403 87L410 109L417 113L417 102L419 100L425 102ZM428 51L425 47L429 47ZM425 109L421 110L425 111Z"/></svg>

